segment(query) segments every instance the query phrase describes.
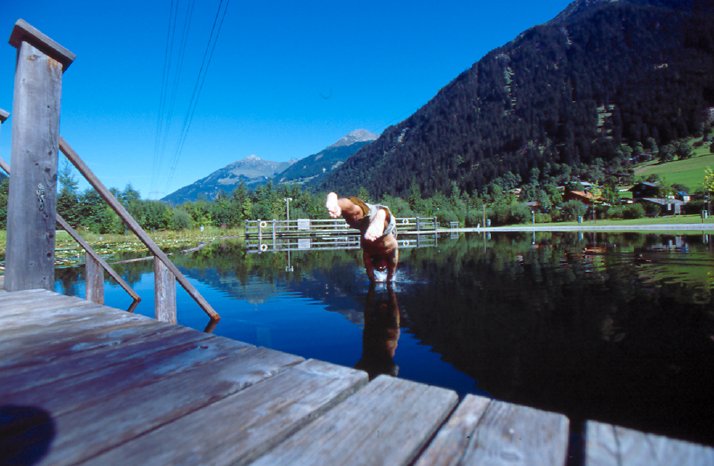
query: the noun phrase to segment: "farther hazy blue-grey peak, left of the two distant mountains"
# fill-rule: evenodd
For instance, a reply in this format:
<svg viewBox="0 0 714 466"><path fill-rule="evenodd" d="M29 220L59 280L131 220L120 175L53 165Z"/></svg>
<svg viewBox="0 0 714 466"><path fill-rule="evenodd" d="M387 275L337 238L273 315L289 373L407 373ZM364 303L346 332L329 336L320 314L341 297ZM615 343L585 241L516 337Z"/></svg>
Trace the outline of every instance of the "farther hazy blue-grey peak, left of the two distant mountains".
<svg viewBox="0 0 714 466"><path fill-rule="evenodd" d="M171 204L182 204L198 199L213 200L219 193L232 193L241 182L246 186L265 183L276 173L289 167L291 163L273 162L263 160L257 155L249 155L174 191L161 200Z"/></svg>

